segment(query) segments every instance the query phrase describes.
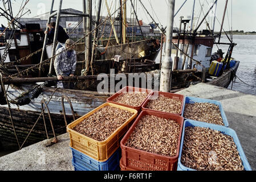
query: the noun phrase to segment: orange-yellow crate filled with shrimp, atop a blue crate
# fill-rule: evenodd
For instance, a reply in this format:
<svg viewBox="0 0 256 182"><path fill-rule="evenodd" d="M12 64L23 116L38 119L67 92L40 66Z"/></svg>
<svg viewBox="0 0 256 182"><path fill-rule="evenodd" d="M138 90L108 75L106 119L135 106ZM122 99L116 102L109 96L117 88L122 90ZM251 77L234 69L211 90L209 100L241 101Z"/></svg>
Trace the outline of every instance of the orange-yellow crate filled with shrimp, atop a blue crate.
<svg viewBox="0 0 256 182"><path fill-rule="evenodd" d="M67 126L70 147L104 162L120 147L136 117L135 109L105 103Z"/></svg>

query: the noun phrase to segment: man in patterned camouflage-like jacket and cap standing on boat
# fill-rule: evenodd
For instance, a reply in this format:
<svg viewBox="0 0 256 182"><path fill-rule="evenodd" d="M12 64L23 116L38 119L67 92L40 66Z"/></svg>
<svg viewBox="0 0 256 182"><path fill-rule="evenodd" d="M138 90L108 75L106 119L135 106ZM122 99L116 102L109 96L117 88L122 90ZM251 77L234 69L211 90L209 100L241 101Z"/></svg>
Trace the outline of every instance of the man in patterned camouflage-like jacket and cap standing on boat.
<svg viewBox="0 0 256 182"><path fill-rule="evenodd" d="M58 80L62 80L63 76L74 76L76 70L76 51L74 50L75 42L67 39L65 47L58 49L54 61L54 68ZM59 88L74 89L73 82L58 82Z"/></svg>

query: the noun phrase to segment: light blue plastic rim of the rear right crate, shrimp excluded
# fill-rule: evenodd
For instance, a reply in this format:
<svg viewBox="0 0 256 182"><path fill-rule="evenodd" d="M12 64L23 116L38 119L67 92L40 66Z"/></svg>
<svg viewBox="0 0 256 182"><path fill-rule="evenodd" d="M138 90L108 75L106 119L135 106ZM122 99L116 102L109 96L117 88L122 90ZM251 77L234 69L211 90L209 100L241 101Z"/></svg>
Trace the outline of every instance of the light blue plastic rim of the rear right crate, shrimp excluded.
<svg viewBox="0 0 256 182"><path fill-rule="evenodd" d="M214 100L209 100L209 99L205 99L205 98L188 97L188 96L185 97L183 108L182 108L182 114L181 114L182 117L184 117L185 105L186 104L194 104L194 103L210 103L210 104L218 105L220 107L221 116L222 116L222 120L223 120L224 126L225 127L229 127L229 122L227 122L227 117L226 117L224 109L223 109L223 107L221 105L221 102L214 101ZM184 119L188 119L188 118L184 117ZM189 120L195 121L193 119L189 119ZM200 121L200 122L203 122L203 121ZM213 125L215 125L215 124L213 124Z"/></svg>

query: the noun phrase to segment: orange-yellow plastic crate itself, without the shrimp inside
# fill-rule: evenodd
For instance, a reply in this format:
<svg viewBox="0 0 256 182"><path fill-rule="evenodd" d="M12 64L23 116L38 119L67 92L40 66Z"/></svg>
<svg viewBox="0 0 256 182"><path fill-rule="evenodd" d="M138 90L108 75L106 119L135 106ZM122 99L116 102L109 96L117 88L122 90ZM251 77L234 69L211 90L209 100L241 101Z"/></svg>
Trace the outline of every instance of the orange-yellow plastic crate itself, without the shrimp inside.
<svg viewBox="0 0 256 182"><path fill-rule="evenodd" d="M73 130L73 128L82 122L84 119L90 117L90 115L94 114L97 110L105 107L105 106L112 106L123 110L128 110L133 113L132 117L129 118L123 125L116 129L107 139L104 141L97 141L90 137L86 137L86 135L80 134ZM70 123L67 126L67 132L70 134L70 147L75 148L83 154L90 156L91 158L99 161L105 162L109 159L109 157L120 147L120 141L124 137L125 133L131 127L133 121L137 117L137 110L131 109L128 107L112 104L112 103L105 103L96 109L90 111L83 117L76 119L76 121Z"/></svg>

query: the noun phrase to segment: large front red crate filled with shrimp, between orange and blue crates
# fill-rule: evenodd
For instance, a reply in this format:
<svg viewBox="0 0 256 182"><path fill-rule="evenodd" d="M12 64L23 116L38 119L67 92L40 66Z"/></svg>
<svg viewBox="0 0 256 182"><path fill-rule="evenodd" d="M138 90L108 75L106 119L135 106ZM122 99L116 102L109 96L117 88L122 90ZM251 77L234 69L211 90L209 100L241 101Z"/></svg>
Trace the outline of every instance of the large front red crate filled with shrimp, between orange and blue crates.
<svg viewBox="0 0 256 182"><path fill-rule="evenodd" d="M182 125L180 115L141 111L121 140L121 169L175 171Z"/></svg>

